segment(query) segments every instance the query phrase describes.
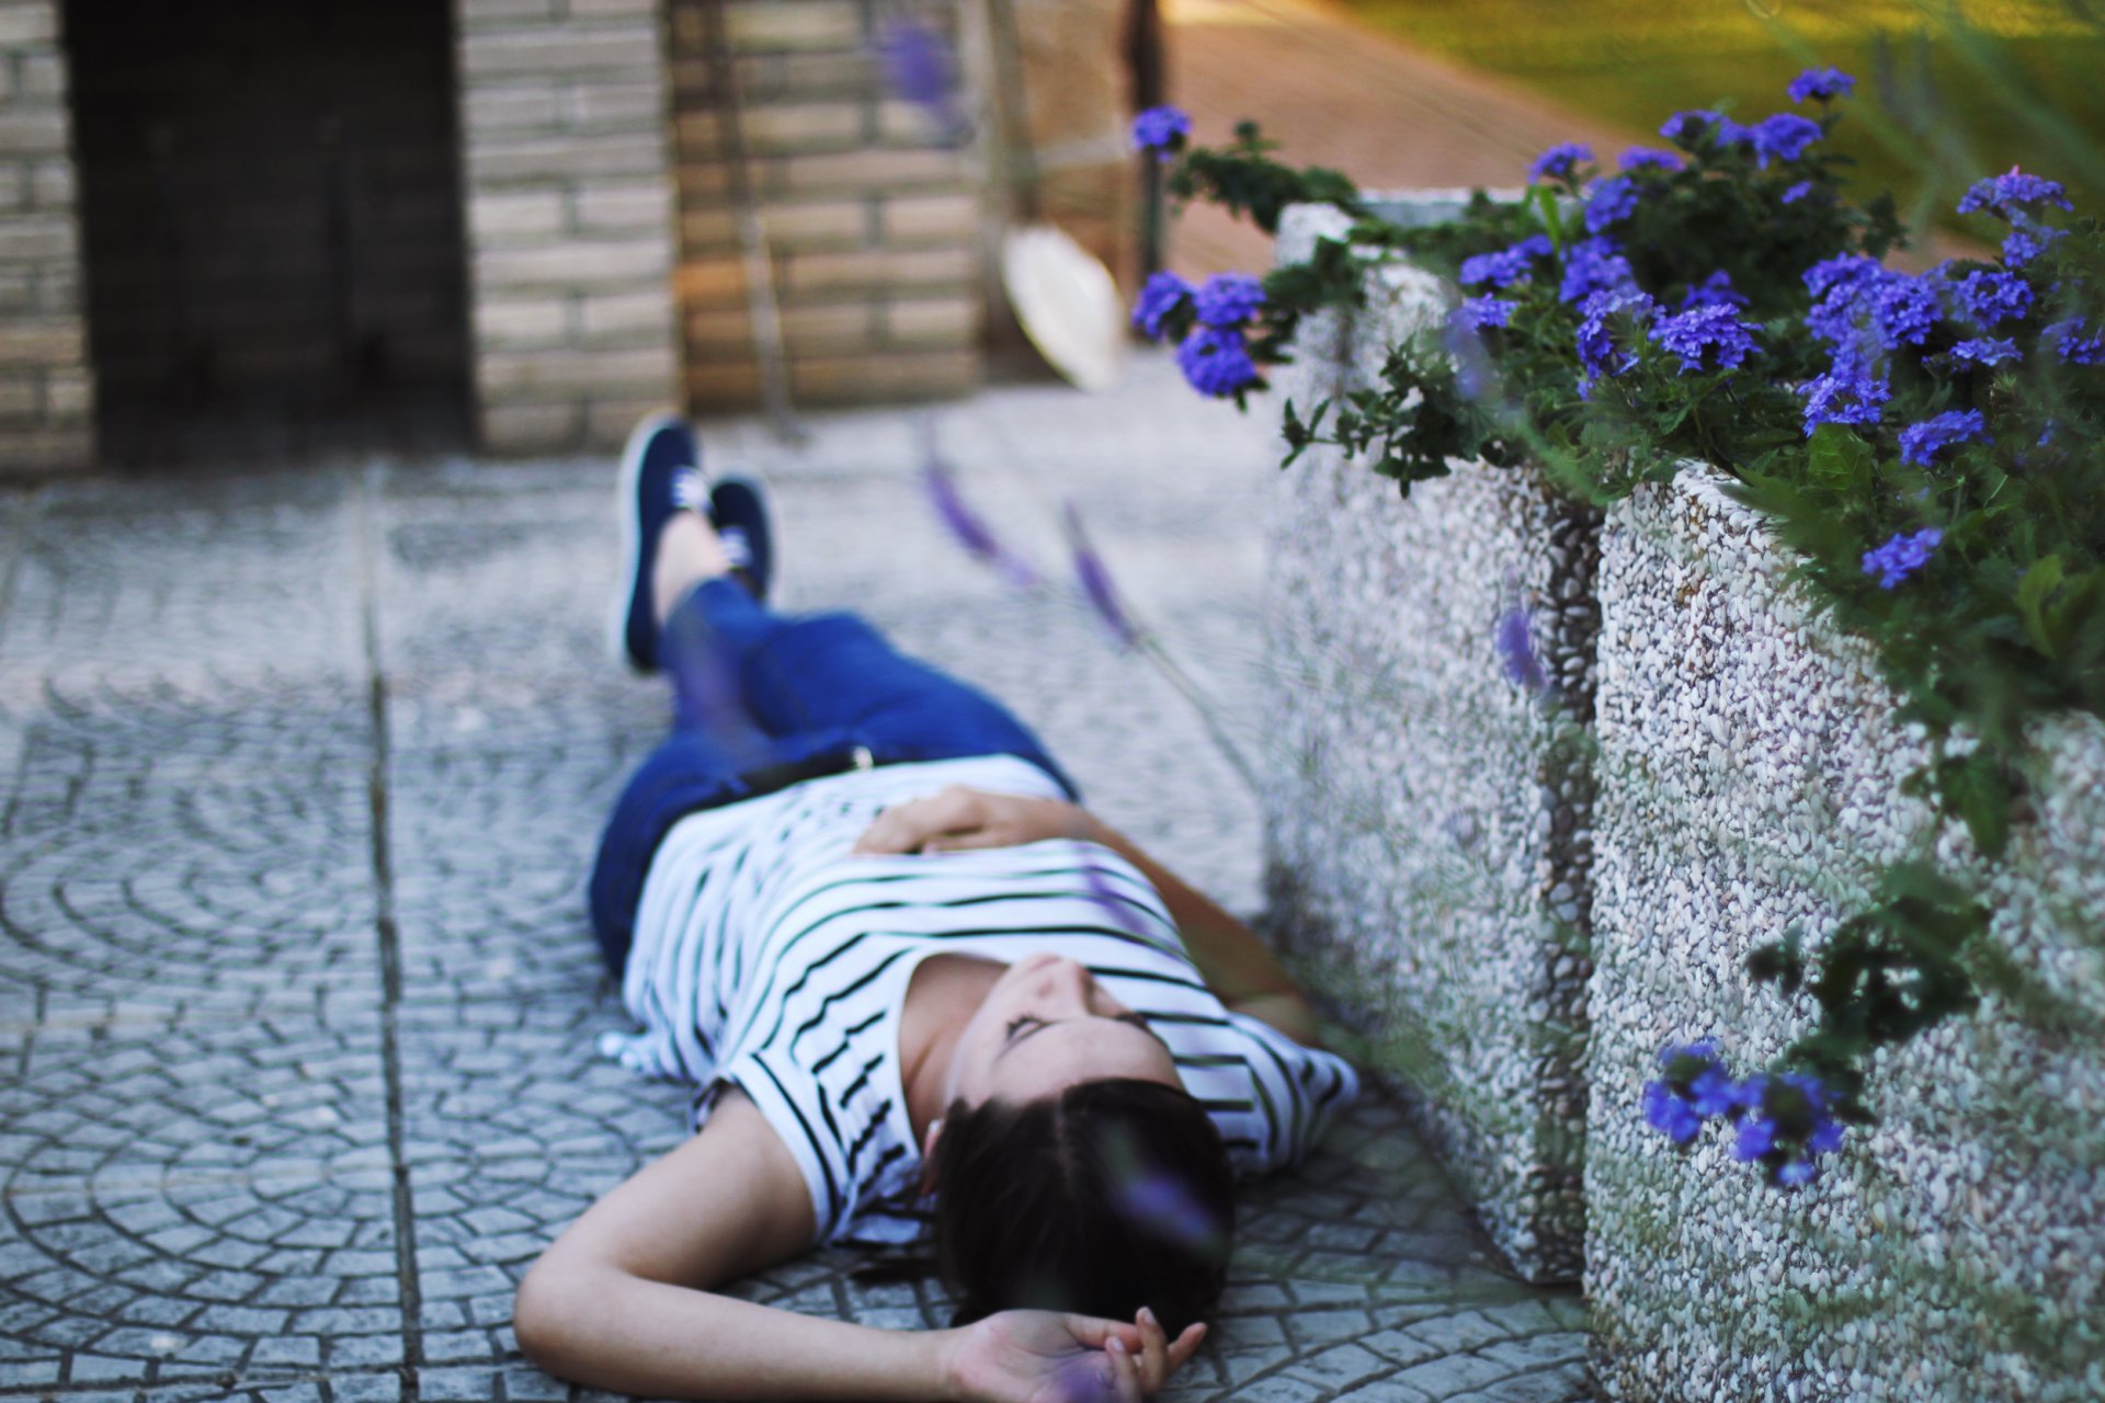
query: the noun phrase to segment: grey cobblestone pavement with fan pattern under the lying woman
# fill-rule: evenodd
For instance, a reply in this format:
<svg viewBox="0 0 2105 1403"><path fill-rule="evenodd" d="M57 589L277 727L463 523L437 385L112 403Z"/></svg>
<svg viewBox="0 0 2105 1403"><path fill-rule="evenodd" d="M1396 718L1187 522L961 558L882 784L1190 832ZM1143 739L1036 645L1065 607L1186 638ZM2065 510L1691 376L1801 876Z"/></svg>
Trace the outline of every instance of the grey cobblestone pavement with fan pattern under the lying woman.
<svg viewBox="0 0 2105 1403"><path fill-rule="evenodd" d="M1048 572L1071 496L1255 745L1259 421L1162 360L935 412ZM853 604L1042 728L1109 818L1257 900L1246 791L1063 591L962 557L911 412L756 425L789 606ZM613 465L368 461L0 494L0 1401L560 1399L512 1287L682 1134L596 1060L594 829L663 698L604 660ZM1488 1260L1381 1102L1248 1197L1177 1399L1585 1395L1583 1308ZM810 1256L741 1289L880 1325L928 1285Z"/></svg>

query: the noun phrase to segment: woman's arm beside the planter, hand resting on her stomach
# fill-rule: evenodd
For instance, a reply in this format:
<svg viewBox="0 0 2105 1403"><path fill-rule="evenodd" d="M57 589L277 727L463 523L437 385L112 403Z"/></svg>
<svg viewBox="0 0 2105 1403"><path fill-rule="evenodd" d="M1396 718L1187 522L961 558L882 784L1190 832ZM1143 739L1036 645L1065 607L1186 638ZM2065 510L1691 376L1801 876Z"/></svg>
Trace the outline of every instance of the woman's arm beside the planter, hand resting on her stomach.
<svg viewBox="0 0 2105 1403"><path fill-rule="evenodd" d="M949 789L884 810L855 843L857 852L951 852L1010 848L1048 837L1080 837L1141 869L1177 921L1191 963L1231 1010L1263 1018L1286 1037L1316 1045L1316 1010L1255 930L1196 892L1088 810L1063 799Z"/></svg>

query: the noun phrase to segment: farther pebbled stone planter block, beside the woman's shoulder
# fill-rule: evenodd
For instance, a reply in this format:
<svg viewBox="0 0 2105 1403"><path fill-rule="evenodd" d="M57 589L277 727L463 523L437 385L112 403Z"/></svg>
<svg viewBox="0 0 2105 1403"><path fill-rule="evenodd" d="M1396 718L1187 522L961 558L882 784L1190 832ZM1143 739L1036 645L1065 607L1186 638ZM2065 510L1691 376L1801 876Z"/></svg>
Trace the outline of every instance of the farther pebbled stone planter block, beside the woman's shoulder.
<svg viewBox="0 0 2105 1403"><path fill-rule="evenodd" d="M1295 212L1282 259L1337 227L1328 210ZM1356 322L1305 328L1278 389L1311 408L1370 383L1381 347L1440 305L1436 280L1391 269ZM1402 501L1364 465L1311 452L1280 475L1274 524L1265 831L1280 938L1368 1037L1513 1264L1575 1277L1589 795L1570 740L1591 709L1591 513L1490 469ZM1558 705L1501 665L1513 608Z"/></svg>

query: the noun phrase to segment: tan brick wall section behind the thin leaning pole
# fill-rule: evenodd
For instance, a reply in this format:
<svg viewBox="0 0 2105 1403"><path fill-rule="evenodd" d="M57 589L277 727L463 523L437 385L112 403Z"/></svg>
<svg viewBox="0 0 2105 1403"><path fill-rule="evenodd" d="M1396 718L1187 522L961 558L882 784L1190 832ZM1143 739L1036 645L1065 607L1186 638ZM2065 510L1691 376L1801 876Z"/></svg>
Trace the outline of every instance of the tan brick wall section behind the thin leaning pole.
<svg viewBox="0 0 2105 1403"><path fill-rule="evenodd" d="M884 25L903 17L956 44L958 4L669 2L690 406L751 408L760 391L711 11L730 50L794 400L970 389L985 324L983 168L888 93L880 57Z"/></svg>

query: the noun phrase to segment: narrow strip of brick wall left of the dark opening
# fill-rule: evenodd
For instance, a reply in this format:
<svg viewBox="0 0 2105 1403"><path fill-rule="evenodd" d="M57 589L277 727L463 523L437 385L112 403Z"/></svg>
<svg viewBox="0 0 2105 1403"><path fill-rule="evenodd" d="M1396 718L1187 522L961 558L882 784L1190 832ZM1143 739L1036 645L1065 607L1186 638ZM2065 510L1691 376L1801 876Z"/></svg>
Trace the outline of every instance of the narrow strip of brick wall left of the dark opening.
<svg viewBox="0 0 2105 1403"><path fill-rule="evenodd" d="M55 0L0 0L0 471L95 456Z"/></svg>

